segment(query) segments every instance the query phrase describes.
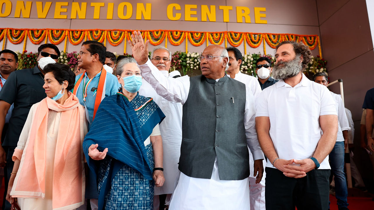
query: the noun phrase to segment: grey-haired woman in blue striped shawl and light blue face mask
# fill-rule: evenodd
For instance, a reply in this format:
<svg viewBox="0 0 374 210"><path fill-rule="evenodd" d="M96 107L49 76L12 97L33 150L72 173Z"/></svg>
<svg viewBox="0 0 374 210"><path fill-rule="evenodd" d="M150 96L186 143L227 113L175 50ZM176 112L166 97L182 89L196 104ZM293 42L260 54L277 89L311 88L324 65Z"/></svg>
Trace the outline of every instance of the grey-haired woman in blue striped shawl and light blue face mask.
<svg viewBox="0 0 374 210"><path fill-rule="evenodd" d="M116 74L122 92L102 100L83 142L97 175L99 210L153 210L153 187L165 182L159 130L165 115L153 99L139 95L134 58L119 61Z"/></svg>

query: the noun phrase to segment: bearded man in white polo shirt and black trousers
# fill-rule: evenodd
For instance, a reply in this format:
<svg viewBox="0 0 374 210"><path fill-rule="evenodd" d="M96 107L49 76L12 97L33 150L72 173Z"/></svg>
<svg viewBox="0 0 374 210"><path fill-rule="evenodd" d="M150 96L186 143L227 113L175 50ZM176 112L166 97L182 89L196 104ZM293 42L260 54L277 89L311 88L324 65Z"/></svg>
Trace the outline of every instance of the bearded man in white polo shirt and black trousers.
<svg viewBox="0 0 374 210"><path fill-rule="evenodd" d="M328 209L338 117L328 89L303 74L311 55L303 43L280 43L273 67L279 82L256 101L258 141L268 157L266 209Z"/></svg>

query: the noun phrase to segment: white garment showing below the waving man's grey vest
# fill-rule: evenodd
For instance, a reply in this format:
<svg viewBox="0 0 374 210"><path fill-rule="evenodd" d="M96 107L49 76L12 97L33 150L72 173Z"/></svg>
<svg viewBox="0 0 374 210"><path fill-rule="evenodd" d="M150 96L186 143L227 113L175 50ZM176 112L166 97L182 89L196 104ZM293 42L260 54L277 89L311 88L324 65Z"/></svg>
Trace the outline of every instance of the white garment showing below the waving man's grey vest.
<svg viewBox="0 0 374 210"><path fill-rule="evenodd" d="M180 173L169 210L249 210L249 181L220 180L217 158L211 179Z"/></svg>

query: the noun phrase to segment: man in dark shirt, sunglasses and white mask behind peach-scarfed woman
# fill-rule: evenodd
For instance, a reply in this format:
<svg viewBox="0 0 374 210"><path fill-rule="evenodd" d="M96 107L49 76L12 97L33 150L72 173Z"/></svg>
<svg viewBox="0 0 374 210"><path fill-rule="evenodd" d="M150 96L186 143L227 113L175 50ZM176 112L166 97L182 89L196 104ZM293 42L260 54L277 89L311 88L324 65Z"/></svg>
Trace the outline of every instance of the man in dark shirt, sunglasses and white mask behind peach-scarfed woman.
<svg viewBox="0 0 374 210"><path fill-rule="evenodd" d="M51 57L58 61L60 51L54 44L42 44L38 48L38 58ZM44 84L44 72L42 67L36 65L34 68L13 71L0 92L0 135L4 128L5 116L11 104L14 104L12 116L10 117L6 135L2 146L0 146L0 167L4 167L5 189L7 189L10 173L13 170L12 156L17 146L19 135L25 124L28 112L33 104L46 98ZM15 176L15 174L12 174ZM6 201L5 209L10 209Z"/></svg>

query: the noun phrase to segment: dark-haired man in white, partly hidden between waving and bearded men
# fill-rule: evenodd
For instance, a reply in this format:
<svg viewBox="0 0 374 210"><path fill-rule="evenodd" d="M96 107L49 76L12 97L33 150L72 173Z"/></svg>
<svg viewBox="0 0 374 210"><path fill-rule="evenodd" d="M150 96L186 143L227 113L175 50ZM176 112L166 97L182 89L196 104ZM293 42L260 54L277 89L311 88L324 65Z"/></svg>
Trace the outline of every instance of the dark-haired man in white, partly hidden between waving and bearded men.
<svg viewBox="0 0 374 210"><path fill-rule="evenodd" d="M244 83L249 89L252 90L254 96L258 96L261 93L261 86L257 82L255 77L240 72L242 66L243 56L242 53L235 47L226 48L229 53L229 69L227 69L227 76L234 80ZM249 170L251 170L254 164L263 164L266 166L265 160L253 161L251 158L251 151L249 150ZM265 210L265 178L266 173L264 172L261 181L256 180L257 175L253 174L252 171L249 175L249 199L251 201L251 210Z"/></svg>

